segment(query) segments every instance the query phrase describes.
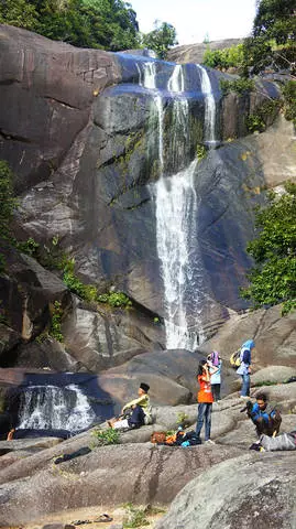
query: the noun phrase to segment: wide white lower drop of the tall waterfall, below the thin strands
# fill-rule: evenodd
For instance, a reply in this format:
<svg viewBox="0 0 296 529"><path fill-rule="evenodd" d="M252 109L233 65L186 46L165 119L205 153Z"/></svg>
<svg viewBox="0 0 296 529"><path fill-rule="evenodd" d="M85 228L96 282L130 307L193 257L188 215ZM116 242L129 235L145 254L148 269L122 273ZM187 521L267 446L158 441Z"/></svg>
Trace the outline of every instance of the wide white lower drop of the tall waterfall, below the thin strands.
<svg viewBox="0 0 296 529"><path fill-rule="evenodd" d="M155 184L157 253L162 262L165 294L166 348L194 350L201 337L199 292L202 283L197 258L196 215L198 201L194 186L197 161ZM191 262L191 252L195 262ZM194 325L188 326L188 296L195 292Z"/></svg>

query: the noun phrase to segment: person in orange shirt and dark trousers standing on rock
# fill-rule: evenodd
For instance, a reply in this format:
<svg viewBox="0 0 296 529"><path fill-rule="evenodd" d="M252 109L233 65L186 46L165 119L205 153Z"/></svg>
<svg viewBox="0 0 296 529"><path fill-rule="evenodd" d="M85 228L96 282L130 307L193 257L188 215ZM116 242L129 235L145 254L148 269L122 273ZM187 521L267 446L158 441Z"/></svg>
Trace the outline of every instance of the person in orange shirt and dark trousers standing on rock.
<svg viewBox="0 0 296 529"><path fill-rule="evenodd" d="M198 415L196 423L196 434L200 439L201 428L205 421L205 442L209 444L215 444L210 439L210 428L211 428L211 409L212 409L212 392L210 385L210 373L209 365L207 360L200 360L197 373L197 380L200 386L200 389L197 393L198 401Z"/></svg>

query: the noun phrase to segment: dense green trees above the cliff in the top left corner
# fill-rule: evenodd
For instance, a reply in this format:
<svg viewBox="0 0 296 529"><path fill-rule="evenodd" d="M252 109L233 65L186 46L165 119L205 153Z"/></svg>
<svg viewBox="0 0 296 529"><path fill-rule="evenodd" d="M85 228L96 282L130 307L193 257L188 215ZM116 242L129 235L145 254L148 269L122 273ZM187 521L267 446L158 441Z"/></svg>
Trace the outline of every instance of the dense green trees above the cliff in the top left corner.
<svg viewBox="0 0 296 529"><path fill-rule="evenodd" d="M138 44L136 14L122 0L1 0L0 22L81 47Z"/></svg>

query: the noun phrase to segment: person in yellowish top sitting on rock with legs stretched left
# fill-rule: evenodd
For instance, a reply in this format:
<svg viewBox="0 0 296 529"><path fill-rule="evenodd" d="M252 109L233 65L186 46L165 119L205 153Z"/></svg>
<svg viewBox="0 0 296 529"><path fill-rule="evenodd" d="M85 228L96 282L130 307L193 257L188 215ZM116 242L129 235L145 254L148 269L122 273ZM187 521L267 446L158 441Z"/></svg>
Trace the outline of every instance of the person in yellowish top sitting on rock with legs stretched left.
<svg viewBox="0 0 296 529"><path fill-rule="evenodd" d="M150 386L145 382L141 382L138 390L138 399L131 400L123 406L121 413L124 415L127 410L131 409L130 417L125 419L110 419L108 425L116 430L140 428L144 424L152 423L152 410L150 404L150 397L147 395Z"/></svg>

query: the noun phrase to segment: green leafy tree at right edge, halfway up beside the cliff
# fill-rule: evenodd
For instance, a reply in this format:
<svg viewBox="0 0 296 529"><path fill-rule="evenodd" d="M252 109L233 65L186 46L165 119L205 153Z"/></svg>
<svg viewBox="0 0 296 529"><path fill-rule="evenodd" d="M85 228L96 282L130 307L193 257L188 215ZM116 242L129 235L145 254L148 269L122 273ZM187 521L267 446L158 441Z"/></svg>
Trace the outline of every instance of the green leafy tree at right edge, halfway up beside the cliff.
<svg viewBox="0 0 296 529"><path fill-rule="evenodd" d="M260 231L246 247L255 267L241 295L255 309L283 303L286 314L296 309L296 184L284 187L281 195L271 192L267 206L256 213Z"/></svg>

